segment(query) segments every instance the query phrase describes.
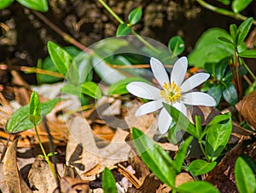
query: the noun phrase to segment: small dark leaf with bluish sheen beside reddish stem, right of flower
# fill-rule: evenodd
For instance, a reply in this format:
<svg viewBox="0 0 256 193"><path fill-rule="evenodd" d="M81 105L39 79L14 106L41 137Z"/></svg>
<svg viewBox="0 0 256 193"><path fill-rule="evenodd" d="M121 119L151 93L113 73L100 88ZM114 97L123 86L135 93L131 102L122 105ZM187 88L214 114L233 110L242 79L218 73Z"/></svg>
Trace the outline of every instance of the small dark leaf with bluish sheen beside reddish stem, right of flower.
<svg viewBox="0 0 256 193"><path fill-rule="evenodd" d="M222 82L222 85L224 87L223 90L223 96L224 99L230 103L230 105L236 105L238 102L237 94L236 94L236 88L232 82Z"/></svg>

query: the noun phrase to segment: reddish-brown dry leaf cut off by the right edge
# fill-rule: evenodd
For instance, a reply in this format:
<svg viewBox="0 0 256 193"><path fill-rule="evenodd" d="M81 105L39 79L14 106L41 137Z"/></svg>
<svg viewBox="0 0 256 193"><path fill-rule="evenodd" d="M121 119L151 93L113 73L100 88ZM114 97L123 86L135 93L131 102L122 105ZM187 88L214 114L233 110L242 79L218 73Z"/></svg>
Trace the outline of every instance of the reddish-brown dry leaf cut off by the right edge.
<svg viewBox="0 0 256 193"><path fill-rule="evenodd" d="M256 129L256 90L236 104L236 109Z"/></svg>

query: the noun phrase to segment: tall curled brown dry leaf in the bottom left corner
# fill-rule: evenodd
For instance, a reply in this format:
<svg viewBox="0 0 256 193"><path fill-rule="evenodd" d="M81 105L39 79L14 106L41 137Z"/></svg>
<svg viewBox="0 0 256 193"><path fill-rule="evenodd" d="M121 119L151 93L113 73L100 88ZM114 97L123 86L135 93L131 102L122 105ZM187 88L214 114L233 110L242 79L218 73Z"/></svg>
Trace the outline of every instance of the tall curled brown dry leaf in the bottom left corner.
<svg viewBox="0 0 256 193"><path fill-rule="evenodd" d="M9 146L6 151L5 160L3 164L4 180L8 185L9 192L26 193L32 192L26 185L24 179L20 177L20 173L17 167L17 150L18 139Z"/></svg>

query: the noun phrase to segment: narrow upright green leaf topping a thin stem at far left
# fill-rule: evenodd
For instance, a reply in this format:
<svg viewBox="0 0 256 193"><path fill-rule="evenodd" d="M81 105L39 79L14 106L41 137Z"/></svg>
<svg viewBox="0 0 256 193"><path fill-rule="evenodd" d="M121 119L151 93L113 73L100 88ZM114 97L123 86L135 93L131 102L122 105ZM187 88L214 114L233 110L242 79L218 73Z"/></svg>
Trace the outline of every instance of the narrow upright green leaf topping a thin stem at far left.
<svg viewBox="0 0 256 193"><path fill-rule="evenodd" d="M29 120L33 125L38 125L41 121L41 104L37 92L33 91L29 103Z"/></svg>

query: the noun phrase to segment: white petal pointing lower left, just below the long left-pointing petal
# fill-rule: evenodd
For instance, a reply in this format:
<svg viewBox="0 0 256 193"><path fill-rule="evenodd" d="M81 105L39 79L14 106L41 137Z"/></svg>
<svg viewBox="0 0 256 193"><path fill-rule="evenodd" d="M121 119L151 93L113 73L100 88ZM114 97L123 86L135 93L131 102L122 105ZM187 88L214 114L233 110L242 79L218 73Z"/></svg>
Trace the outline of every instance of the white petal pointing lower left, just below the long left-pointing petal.
<svg viewBox="0 0 256 193"><path fill-rule="evenodd" d="M161 107L163 107L163 100L162 99L159 99L159 100L154 100L154 101L151 101L151 102L148 102L144 105L141 105L136 113L135 113L135 116L143 116L143 115L146 115L150 112L154 112L154 111L157 111L159 110Z"/></svg>

